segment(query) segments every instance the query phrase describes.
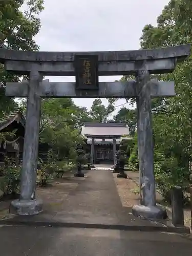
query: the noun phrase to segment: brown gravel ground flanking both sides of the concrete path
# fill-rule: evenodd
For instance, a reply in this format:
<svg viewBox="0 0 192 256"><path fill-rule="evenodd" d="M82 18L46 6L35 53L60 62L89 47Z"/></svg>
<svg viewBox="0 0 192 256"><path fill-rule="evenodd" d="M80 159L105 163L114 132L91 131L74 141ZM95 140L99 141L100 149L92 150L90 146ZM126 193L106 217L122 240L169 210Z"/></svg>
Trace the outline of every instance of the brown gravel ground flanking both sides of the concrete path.
<svg viewBox="0 0 192 256"><path fill-rule="evenodd" d="M122 203L122 206L124 207L132 207L134 204L139 204L140 202L140 196L139 196L139 187L137 185L138 179L136 176L138 176L137 173L127 172L129 177L131 179L121 179L117 178L117 174L113 174L114 181L117 187L117 191ZM48 199L48 204L44 205L46 210L51 210L54 208L54 206L62 205L63 200L66 199L70 191L75 190L78 186L78 179L74 179L72 175L70 175L71 182L64 179L56 180L59 183L52 184L50 187L37 188L37 197L41 198L44 201L47 201L45 199ZM132 177L133 176L133 177ZM133 179L134 180L133 180ZM73 180L74 179L74 180ZM83 179L83 178L81 178ZM161 201L161 195L157 193L157 200ZM12 200L7 201L0 201L0 219L9 217L9 204ZM164 204L165 205L165 204ZM171 207L166 206L167 210L169 210L169 218L171 217ZM191 226L191 211L190 209L184 209L184 223L186 227Z"/></svg>

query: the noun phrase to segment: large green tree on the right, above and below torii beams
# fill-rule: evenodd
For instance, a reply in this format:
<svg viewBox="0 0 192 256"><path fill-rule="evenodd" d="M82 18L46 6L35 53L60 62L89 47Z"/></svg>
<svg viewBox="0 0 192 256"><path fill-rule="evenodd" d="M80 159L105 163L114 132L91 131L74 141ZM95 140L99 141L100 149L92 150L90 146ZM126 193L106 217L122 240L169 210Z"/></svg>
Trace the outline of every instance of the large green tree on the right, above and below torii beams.
<svg viewBox="0 0 192 256"><path fill-rule="evenodd" d="M171 0L157 18L157 27L146 25L141 47L186 44L192 40L192 2ZM192 59L177 65L173 74L158 75L158 79L175 80L176 96L153 100L153 133L155 142L155 174L165 197L172 185L189 181L188 161L191 159Z"/></svg>

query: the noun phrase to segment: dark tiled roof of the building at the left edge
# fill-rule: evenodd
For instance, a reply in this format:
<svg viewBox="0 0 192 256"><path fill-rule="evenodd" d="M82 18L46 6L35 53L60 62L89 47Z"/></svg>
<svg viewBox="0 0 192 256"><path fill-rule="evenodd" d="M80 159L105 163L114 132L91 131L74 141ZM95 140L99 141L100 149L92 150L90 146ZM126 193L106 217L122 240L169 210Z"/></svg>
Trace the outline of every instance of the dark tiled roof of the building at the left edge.
<svg viewBox="0 0 192 256"><path fill-rule="evenodd" d="M22 125L25 125L25 118L20 112L19 109L16 109L15 111L6 114L4 117L0 118L0 131L5 129L9 124L11 124L14 121L21 122Z"/></svg>

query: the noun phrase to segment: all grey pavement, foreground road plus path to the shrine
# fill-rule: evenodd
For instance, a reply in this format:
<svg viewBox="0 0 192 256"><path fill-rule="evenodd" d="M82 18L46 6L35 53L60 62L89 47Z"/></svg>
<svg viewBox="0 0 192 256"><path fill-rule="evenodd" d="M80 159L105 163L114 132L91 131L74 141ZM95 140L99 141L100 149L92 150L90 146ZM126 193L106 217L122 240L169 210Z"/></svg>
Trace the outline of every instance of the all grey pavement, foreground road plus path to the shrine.
<svg viewBox="0 0 192 256"><path fill-rule="evenodd" d="M139 232L99 228L38 226L37 221L55 223L154 225L135 219L131 208L123 207L110 170L91 170L86 178L71 177L58 184L45 197L44 213L33 217L15 217L34 226L0 225L0 252L3 256L162 256L190 255L190 236L165 232ZM68 194L64 188L70 187ZM47 188L46 188L47 189ZM45 190L46 190L45 189ZM64 191L62 194L62 191ZM47 195L47 194L45 194ZM47 201L46 201L47 200ZM59 202L59 207L58 203ZM1 224L1 223L0 223ZM11 224L11 223L10 223Z"/></svg>

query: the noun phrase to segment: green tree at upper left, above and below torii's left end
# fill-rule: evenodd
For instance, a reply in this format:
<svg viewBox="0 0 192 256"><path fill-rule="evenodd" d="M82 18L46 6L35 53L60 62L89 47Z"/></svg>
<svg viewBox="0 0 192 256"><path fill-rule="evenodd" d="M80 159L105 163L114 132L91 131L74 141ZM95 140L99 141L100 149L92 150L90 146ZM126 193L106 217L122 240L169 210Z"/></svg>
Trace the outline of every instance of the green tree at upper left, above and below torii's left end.
<svg viewBox="0 0 192 256"><path fill-rule="evenodd" d="M39 32L40 20L37 17L44 7L44 0L0 1L0 48L11 50L37 51L33 37ZM27 10L21 11L23 5ZM4 71L0 64L0 115L14 109L15 101L5 96L5 83L18 81L19 77Z"/></svg>

